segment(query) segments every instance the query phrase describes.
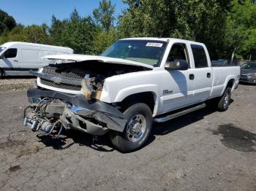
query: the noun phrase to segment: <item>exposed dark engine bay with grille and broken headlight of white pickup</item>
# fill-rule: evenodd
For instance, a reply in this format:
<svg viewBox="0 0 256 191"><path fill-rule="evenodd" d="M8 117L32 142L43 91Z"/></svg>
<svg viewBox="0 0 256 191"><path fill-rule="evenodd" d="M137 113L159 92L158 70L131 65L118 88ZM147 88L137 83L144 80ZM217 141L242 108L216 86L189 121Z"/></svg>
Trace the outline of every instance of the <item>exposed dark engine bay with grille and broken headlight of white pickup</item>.
<svg viewBox="0 0 256 191"><path fill-rule="evenodd" d="M44 67L41 73L33 74L40 78L42 85L63 90L82 90L88 100L99 100L106 78L146 70L150 69L143 66L82 61L50 64Z"/></svg>

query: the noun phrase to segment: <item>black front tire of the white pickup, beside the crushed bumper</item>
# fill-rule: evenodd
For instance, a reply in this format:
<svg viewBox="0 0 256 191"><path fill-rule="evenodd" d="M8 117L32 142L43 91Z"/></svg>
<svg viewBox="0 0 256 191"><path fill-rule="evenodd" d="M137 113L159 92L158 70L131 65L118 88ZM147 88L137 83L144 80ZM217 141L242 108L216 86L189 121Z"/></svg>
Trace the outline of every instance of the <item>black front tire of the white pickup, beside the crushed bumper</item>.
<svg viewBox="0 0 256 191"><path fill-rule="evenodd" d="M143 147L143 145L148 140L148 136L150 135L152 128L152 112L146 104L138 103L129 106L129 108L124 111L124 115L127 117L127 125L124 128L124 132L121 133L111 130L109 132L110 141L113 146L116 147L116 149L118 149L119 151L132 152ZM140 120L141 116L144 117L142 117L142 119L143 122L146 122L146 125L142 122L142 120ZM139 125L139 127L141 126L145 128L139 128L140 132L135 133L134 131L131 131L131 129L134 130L135 128L131 127L136 127L137 124ZM145 130L143 131L141 129ZM142 131L143 133L140 135ZM136 139L133 138L132 135L140 135L140 137L138 137L138 141L135 141Z"/></svg>

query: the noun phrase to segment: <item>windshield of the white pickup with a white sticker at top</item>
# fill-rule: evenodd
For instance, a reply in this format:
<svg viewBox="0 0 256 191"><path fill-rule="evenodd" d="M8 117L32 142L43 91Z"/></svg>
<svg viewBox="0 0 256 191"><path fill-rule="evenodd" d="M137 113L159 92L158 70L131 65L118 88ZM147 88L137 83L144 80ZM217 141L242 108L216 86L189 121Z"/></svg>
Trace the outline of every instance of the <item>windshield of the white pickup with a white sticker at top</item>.
<svg viewBox="0 0 256 191"><path fill-rule="evenodd" d="M119 40L103 52L102 56L158 66L165 52L166 44L167 42L155 40Z"/></svg>

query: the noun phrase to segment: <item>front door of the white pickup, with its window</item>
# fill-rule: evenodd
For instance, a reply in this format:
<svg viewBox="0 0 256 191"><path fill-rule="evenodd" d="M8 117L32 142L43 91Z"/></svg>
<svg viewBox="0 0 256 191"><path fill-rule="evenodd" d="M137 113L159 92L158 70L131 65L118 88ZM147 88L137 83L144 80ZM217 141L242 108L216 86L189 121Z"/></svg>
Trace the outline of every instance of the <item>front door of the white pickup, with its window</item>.
<svg viewBox="0 0 256 191"><path fill-rule="evenodd" d="M184 60L189 63L189 57L187 53L187 45L183 43L176 43L170 49L167 61ZM170 70L167 71L165 82L162 89L162 111L170 112L175 109L189 106L195 103L194 100L194 83L195 81L189 76L192 73L192 69L186 71Z"/></svg>

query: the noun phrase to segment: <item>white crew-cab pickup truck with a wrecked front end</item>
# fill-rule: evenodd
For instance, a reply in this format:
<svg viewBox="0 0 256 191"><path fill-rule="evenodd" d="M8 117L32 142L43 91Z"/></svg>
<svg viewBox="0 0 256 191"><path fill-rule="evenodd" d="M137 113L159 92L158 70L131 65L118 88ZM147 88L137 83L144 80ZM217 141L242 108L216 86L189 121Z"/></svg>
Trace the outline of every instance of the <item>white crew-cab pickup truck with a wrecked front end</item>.
<svg viewBox="0 0 256 191"><path fill-rule="evenodd" d="M121 152L145 144L153 122L201 109L223 112L238 86L238 66L211 67L206 46L182 39L121 39L100 56L48 55L31 71L24 125L58 137L65 128L108 133Z"/></svg>

